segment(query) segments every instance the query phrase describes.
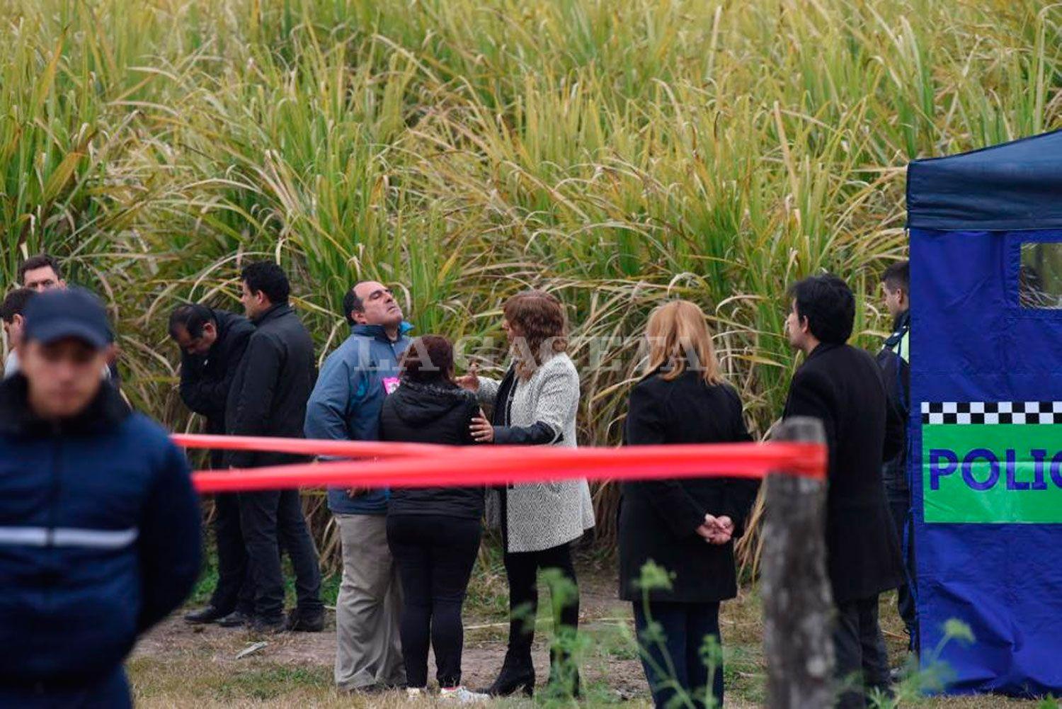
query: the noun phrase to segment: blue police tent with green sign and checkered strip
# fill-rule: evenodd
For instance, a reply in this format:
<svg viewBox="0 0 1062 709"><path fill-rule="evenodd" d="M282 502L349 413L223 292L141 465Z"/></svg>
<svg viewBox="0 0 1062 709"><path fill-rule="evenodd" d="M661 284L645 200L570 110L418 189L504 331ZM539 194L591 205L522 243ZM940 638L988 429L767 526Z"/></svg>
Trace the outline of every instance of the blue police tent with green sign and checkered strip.
<svg viewBox="0 0 1062 709"><path fill-rule="evenodd" d="M1062 692L1062 131L907 172L923 662L949 691Z"/></svg>

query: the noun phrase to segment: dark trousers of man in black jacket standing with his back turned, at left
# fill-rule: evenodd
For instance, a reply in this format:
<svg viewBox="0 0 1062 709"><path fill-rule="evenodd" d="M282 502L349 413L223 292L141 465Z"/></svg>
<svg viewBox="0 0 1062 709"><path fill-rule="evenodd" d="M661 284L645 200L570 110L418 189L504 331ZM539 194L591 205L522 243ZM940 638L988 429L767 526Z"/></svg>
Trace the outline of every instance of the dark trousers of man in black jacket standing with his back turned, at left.
<svg viewBox="0 0 1062 709"><path fill-rule="evenodd" d="M276 621L284 613L281 548L288 552L295 571L298 610L321 612L324 604L318 551L303 516L298 491L241 492L239 500L240 527L255 588L255 614Z"/></svg>

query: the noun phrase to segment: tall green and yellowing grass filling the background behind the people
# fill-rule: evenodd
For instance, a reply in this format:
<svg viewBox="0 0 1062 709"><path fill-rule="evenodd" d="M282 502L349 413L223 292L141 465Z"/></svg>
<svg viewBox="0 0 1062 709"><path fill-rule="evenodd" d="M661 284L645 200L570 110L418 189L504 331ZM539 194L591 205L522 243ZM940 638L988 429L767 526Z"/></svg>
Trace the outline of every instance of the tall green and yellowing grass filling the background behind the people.
<svg viewBox="0 0 1062 709"><path fill-rule="evenodd" d="M585 338L689 298L764 433L794 366L786 284L847 278L874 347L904 166L1058 126L1060 21L1031 0L0 0L0 274L68 257L113 305L130 395L181 428L162 316L236 307L241 258L291 270L322 355L357 278L496 354L500 302L548 288L596 444L636 343Z"/></svg>

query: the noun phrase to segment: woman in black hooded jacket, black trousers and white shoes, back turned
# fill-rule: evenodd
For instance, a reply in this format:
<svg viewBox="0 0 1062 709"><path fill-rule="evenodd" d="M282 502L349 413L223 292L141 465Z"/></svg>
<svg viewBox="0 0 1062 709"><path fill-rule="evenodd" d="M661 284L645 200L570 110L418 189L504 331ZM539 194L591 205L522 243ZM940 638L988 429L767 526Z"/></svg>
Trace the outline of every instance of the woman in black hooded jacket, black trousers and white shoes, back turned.
<svg viewBox="0 0 1062 709"><path fill-rule="evenodd" d="M444 337L414 340L401 383L383 402L380 440L470 445L476 396L453 382L453 348ZM388 544L398 564L405 604L399 635L411 693L428 682L428 641L444 696L476 698L461 687L461 606L482 536L483 488L391 491Z"/></svg>

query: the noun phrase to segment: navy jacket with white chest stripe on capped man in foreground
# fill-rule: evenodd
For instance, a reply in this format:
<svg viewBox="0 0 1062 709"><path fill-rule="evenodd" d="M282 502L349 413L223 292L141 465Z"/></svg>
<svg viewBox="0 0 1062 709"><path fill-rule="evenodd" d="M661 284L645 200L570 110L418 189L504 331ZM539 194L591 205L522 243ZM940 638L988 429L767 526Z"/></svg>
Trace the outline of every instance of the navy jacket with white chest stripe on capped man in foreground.
<svg viewBox="0 0 1062 709"><path fill-rule="evenodd" d="M200 528L185 455L109 384L58 423L33 415L21 375L0 385L0 705L113 674L191 591Z"/></svg>

